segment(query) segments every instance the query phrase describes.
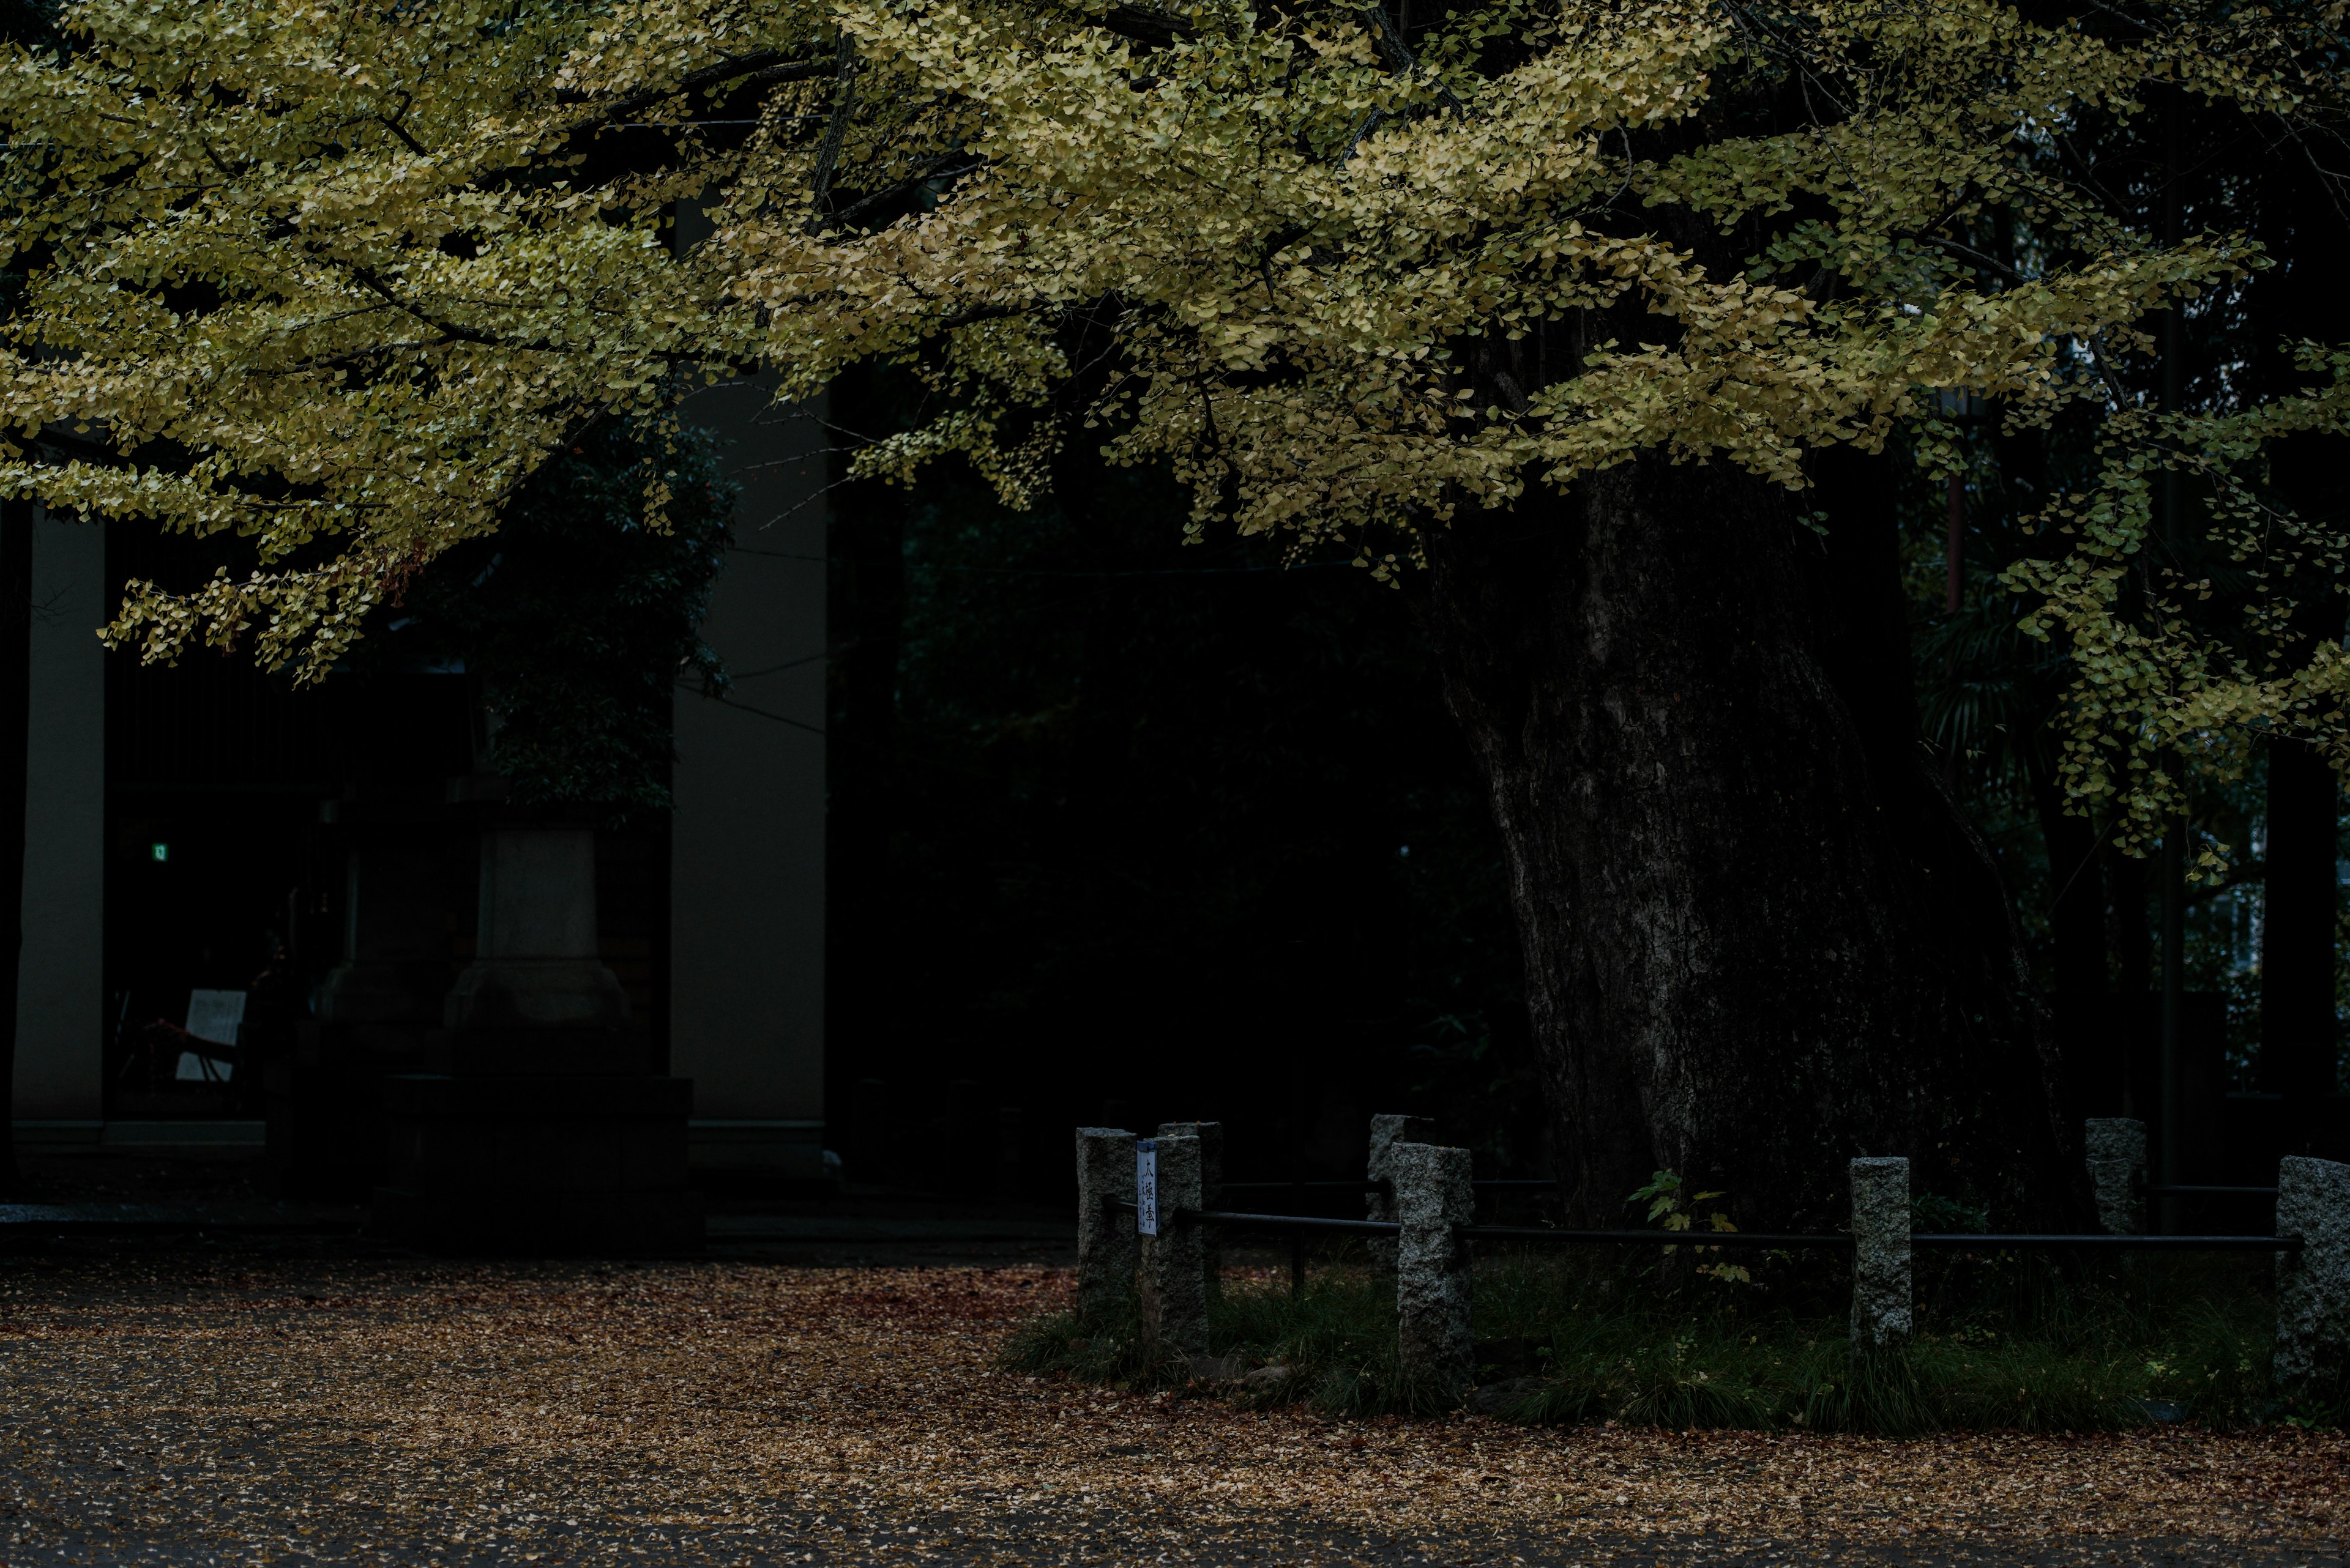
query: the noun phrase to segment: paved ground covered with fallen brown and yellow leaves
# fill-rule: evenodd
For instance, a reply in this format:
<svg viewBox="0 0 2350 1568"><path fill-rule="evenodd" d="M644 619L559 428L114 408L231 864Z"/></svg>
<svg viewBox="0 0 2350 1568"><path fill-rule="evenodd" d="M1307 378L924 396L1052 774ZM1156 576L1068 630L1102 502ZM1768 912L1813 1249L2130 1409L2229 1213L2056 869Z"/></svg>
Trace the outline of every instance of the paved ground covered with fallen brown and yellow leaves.
<svg viewBox="0 0 2350 1568"><path fill-rule="evenodd" d="M2338 1563L2350 1439L1325 1422L1043 1269L0 1258L0 1563Z"/></svg>

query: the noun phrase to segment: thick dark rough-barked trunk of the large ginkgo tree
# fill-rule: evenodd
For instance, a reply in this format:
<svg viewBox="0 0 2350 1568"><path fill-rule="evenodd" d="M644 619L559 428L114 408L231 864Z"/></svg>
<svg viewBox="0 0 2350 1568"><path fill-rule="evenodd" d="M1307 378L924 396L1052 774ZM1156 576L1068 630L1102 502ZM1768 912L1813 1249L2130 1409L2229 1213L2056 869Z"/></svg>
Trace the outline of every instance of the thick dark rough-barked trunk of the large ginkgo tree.
<svg viewBox="0 0 2350 1568"><path fill-rule="evenodd" d="M1676 1168L1741 1225L1835 1225L1854 1154L2084 1213L1998 877L1918 748L1889 520L1828 480L1831 543L1664 458L1429 536L1574 1222Z"/></svg>

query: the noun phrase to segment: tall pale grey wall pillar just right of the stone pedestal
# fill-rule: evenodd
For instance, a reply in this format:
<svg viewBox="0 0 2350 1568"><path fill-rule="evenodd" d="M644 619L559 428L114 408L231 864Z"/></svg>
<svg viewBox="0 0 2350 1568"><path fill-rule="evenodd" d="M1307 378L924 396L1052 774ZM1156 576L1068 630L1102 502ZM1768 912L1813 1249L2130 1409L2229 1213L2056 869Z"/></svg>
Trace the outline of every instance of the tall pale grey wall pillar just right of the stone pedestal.
<svg viewBox="0 0 2350 1568"><path fill-rule="evenodd" d="M825 482L818 409L696 395L743 498L703 635L733 689L677 693L670 1072L696 1164L818 1175L825 1105Z"/></svg>

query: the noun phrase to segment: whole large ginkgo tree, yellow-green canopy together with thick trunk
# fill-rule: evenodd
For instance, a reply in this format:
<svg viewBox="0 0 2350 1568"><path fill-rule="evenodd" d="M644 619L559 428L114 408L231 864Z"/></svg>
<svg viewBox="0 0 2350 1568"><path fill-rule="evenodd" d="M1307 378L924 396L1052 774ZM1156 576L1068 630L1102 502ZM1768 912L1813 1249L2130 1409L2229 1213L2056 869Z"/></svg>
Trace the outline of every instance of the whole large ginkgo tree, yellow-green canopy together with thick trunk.
<svg viewBox="0 0 2350 1568"><path fill-rule="evenodd" d="M2164 404L2160 313L2270 259L2150 233L2160 165L2110 158L2186 101L2326 143L2341 5L63 16L0 73L0 484L258 562L127 585L110 637L313 675L583 428L658 440L754 367L780 397L928 378L865 475L954 456L1027 503L1072 451L1166 465L1194 534L1415 599L1582 1218L1671 1166L1819 1220L1864 1152L2077 1201L2061 1063L1911 710L1885 454L1934 463L1946 409L2106 433L2019 569L2073 654L2082 802L2143 844L2254 731L2341 750L2338 649L2282 628L2343 524L2261 456L2341 435L2350 362L2280 343L2284 395ZM2160 529L2277 562L2272 592L2193 621Z"/></svg>

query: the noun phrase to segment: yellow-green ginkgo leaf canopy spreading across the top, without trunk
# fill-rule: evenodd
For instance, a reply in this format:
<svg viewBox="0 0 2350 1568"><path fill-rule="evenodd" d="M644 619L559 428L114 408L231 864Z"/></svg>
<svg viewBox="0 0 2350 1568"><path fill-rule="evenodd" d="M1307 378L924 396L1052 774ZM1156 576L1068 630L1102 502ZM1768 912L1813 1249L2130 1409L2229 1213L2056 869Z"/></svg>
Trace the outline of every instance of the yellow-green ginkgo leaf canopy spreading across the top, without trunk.
<svg viewBox="0 0 2350 1568"><path fill-rule="evenodd" d="M263 567L132 585L110 637L324 670L604 418L752 364L935 390L862 475L961 454L1027 503L1067 442L1168 463L1191 531L1379 578L1431 529L1645 451L1784 487L1939 393L2089 409L2099 470L2033 520L2026 628L2073 656L2068 788L2169 809L2164 757L2249 729L2343 755L2338 646L2294 644L2341 517L2263 487L2343 430L2350 350L2164 407L2150 317L2268 256L2157 233L2115 136L2162 101L2338 136L2343 5L1990 0L228 0L63 12L12 49L0 487L237 531ZM674 212L714 233L674 244ZM1647 322L1612 331L1631 310ZM1535 331L1551 324L1551 331ZM73 430L101 442L45 444ZM1955 458L1950 458L1955 461ZM665 475L646 465L663 517ZM2150 548L2265 583L2230 625ZM2287 571L2317 564L2322 571ZM2261 576L2263 567L2275 567ZM2296 651L2298 649L2298 651Z"/></svg>

